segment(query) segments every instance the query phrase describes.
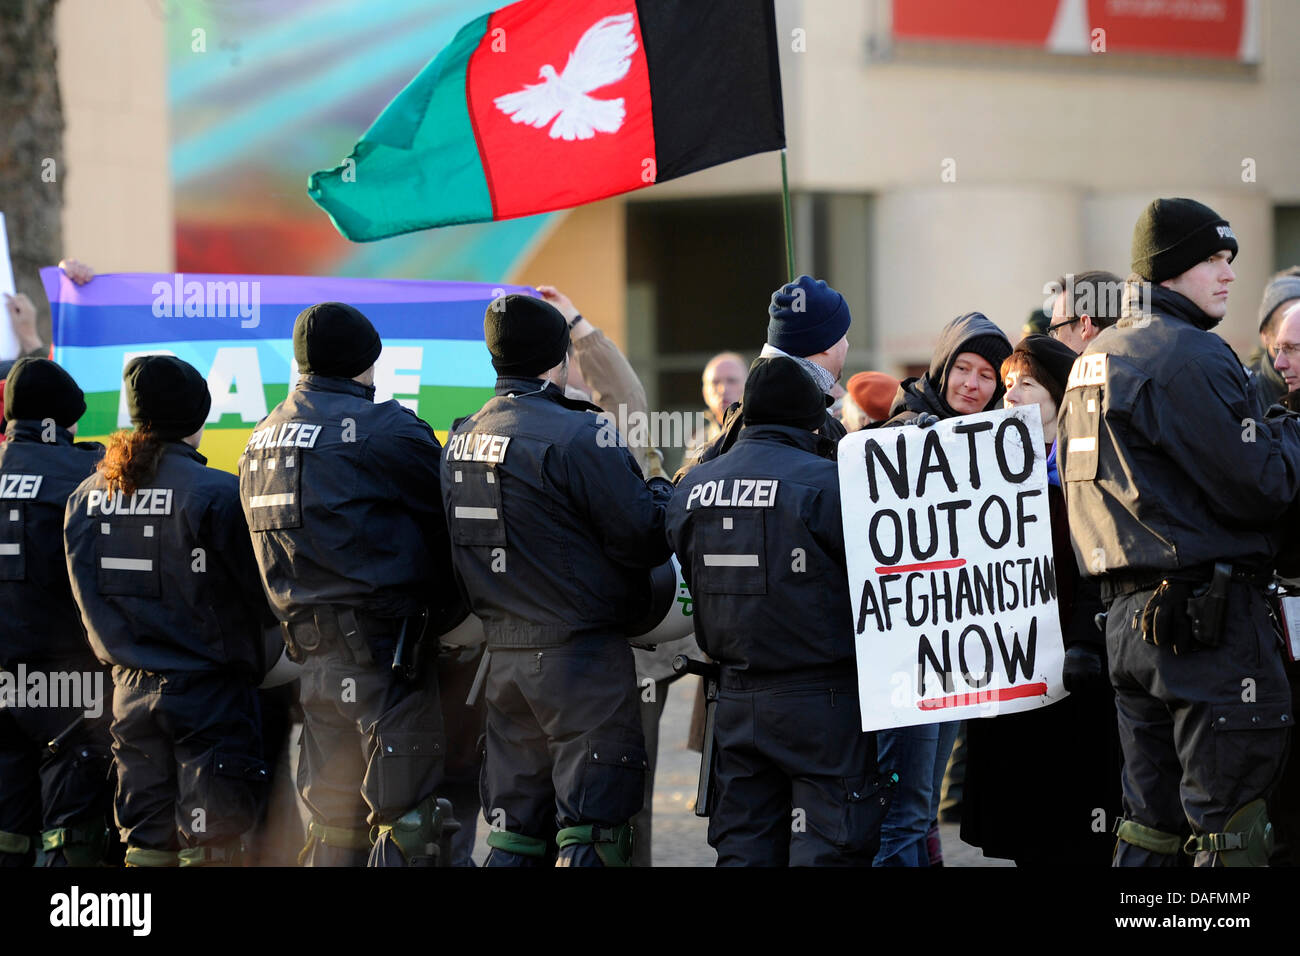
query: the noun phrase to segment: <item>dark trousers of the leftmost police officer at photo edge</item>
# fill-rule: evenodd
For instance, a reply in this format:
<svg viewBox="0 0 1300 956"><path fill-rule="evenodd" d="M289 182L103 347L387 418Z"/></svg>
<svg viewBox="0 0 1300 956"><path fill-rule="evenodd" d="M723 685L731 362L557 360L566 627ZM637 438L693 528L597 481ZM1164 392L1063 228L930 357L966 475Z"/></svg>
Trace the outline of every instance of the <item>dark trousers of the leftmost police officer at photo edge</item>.
<svg viewBox="0 0 1300 956"><path fill-rule="evenodd" d="M12 665L13 671L17 665ZM104 827L113 805L108 724L112 680L95 661L29 662L26 672L92 675L98 701L82 706L0 706L0 832L26 836L26 853L0 852L0 866L27 866L40 834L61 827ZM98 676L94 676L98 675ZM87 713L98 715L87 717ZM47 744L58 737L57 750ZM44 857L64 862L62 852Z"/></svg>

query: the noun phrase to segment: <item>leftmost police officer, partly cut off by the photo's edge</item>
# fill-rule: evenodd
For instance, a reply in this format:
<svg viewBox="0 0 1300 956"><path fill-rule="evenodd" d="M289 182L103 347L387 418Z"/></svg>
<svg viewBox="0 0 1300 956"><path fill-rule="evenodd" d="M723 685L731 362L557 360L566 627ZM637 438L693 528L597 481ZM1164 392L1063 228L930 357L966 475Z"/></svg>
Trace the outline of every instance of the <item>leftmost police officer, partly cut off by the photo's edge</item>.
<svg viewBox="0 0 1300 956"><path fill-rule="evenodd" d="M73 441L84 411L82 390L53 362L14 363L0 444L0 669L16 682L10 700L0 685L0 866L30 862L36 849L48 866L88 866L104 862L109 844L110 684L86 643L64 562L68 496L104 454ZM69 689L79 700L26 701L32 675L47 693Z"/></svg>

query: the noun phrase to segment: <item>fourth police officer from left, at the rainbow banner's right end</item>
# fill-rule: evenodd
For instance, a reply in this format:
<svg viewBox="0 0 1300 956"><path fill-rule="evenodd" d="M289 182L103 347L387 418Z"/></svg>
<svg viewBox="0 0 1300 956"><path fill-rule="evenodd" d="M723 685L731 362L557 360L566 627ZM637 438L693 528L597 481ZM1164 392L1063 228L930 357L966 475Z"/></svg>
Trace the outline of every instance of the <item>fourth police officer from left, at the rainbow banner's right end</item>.
<svg viewBox="0 0 1300 956"><path fill-rule="evenodd" d="M447 441L456 572L490 663L489 866L625 866L646 767L627 630L668 559L672 485L641 468L597 406L564 397L568 326L507 295L484 338L497 395Z"/></svg>

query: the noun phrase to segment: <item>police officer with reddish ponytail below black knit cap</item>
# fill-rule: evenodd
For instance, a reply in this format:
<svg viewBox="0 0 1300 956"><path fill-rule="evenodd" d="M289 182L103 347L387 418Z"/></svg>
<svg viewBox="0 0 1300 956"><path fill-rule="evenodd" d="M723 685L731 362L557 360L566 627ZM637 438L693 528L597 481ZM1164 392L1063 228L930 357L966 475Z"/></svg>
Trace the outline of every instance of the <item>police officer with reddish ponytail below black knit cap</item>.
<svg viewBox="0 0 1300 956"><path fill-rule="evenodd" d="M134 866L237 865L268 782L256 687L269 610L235 477L198 447L212 397L170 355L124 375L134 432L68 499L91 646L113 665L117 826Z"/></svg>

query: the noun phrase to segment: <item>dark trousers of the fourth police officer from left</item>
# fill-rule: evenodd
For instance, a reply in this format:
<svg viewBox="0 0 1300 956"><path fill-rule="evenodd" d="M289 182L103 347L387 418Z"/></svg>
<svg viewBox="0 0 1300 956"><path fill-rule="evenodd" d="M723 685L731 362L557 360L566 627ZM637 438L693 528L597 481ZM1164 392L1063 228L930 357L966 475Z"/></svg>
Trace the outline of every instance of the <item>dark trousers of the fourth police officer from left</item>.
<svg viewBox="0 0 1300 956"><path fill-rule="evenodd" d="M480 793L494 829L551 842L560 827L616 827L641 809L646 750L632 648L616 636L493 650ZM488 866L550 865L493 849ZM559 865L601 866L592 845Z"/></svg>

